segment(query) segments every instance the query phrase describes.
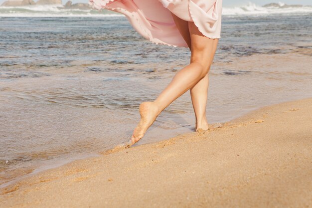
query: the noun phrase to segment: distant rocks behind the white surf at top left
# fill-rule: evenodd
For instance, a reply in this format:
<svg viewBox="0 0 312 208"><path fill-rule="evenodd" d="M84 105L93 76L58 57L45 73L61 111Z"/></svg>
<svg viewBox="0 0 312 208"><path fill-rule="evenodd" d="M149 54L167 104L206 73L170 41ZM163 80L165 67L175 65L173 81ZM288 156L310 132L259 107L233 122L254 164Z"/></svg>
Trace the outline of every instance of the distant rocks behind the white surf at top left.
<svg viewBox="0 0 312 208"><path fill-rule="evenodd" d="M7 0L4 1L1 6L27 6L27 5L47 5L47 4L62 4L62 0L38 0L37 2L33 0ZM72 3L68 0L64 7L58 7L60 9L90 9L91 6L88 3Z"/></svg>

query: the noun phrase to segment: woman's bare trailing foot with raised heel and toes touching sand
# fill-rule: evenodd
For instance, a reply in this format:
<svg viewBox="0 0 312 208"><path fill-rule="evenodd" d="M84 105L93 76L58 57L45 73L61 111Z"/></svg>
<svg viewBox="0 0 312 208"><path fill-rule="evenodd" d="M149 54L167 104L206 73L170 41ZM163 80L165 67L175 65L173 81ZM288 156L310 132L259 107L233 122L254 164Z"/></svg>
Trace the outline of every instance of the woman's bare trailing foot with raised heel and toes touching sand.
<svg viewBox="0 0 312 208"><path fill-rule="evenodd" d="M131 137L132 144L138 142L144 136L145 132L150 128L158 116L158 107L153 102L143 102L139 108L141 120L133 131Z"/></svg>

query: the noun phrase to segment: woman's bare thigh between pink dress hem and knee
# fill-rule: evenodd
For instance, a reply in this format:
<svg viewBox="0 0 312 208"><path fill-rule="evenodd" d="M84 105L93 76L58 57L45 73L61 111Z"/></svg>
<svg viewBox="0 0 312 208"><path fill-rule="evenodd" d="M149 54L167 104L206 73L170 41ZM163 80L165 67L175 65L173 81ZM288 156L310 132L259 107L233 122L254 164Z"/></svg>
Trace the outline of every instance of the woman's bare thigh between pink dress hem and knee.
<svg viewBox="0 0 312 208"><path fill-rule="evenodd" d="M218 39L204 36L194 24L188 22L191 39L191 62L200 62L204 67L210 67L218 45Z"/></svg>

